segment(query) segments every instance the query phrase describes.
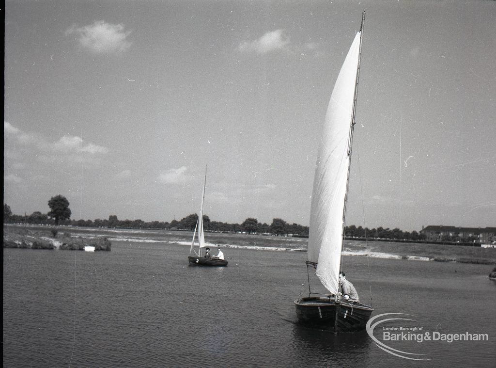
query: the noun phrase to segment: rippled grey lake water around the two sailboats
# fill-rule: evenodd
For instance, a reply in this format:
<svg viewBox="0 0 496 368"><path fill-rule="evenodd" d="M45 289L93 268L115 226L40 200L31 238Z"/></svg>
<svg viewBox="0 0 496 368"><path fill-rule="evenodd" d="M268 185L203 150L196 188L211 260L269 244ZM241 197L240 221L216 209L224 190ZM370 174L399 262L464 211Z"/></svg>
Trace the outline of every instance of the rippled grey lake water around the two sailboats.
<svg viewBox="0 0 496 368"><path fill-rule="evenodd" d="M225 248L225 268L189 247L113 241L111 252L3 249L4 367L496 367L492 266L345 257L374 315L366 333L300 326L306 253ZM384 318L387 318L386 316ZM392 316L401 317L401 316ZM487 334L489 341L383 341L383 328ZM399 354L399 353L396 353Z"/></svg>

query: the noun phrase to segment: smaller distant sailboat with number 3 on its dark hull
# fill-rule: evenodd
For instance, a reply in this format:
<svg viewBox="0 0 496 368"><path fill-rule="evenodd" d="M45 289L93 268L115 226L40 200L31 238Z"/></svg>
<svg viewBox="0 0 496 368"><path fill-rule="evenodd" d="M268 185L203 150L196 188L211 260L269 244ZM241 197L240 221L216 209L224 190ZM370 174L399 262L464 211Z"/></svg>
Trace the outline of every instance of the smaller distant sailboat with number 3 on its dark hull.
<svg viewBox="0 0 496 368"><path fill-rule="evenodd" d="M205 186L207 183L207 168L205 167L205 180L203 181L203 192L201 194L201 206L198 214L198 220L194 228L193 239L191 241L191 248L189 249L188 262L190 265L195 266L227 266L228 261L219 259L205 254L207 246L205 244L205 235L203 231L203 202L205 201Z"/></svg>

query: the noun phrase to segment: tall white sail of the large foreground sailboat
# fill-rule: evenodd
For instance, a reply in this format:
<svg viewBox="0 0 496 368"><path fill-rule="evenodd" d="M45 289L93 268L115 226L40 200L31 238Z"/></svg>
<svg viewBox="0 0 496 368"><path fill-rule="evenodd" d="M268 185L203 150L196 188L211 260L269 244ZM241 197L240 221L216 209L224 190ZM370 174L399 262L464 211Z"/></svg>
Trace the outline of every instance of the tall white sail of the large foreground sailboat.
<svg viewBox="0 0 496 368"><path fill-rule="evenodd" d="M308 259L332 294L338 293L343 211L348 176L350 128L360 53L355 36L331 94L318 149L310 209Z"/></svg>

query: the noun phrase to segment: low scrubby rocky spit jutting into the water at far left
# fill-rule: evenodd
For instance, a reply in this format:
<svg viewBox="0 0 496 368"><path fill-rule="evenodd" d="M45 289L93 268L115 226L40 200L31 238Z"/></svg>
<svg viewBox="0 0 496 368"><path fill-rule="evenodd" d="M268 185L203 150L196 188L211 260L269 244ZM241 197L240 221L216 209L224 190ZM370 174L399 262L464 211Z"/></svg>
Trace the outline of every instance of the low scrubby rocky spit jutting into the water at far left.
<svg viewBox="0 0 496 368"><path fill-rule="evenodd" d="M28 231L24 234L3 232L4 248L85 250L85 247L91 247L93 250L94 247L95 251L110 251L111 246L110 240L104 236L71 237L70 234L58 233L57 230L52 230L51 236Z"/></svg>

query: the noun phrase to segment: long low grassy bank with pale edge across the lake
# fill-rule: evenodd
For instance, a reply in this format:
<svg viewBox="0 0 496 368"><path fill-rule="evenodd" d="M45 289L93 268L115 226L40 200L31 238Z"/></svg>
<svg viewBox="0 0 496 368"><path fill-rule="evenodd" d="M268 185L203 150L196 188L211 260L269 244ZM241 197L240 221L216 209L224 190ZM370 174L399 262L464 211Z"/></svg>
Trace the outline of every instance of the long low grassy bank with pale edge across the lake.
<svg viewBox="0 0 496 368"><path fill-rule="evenodd" d="M54 238L51 232L56 231ZM91 244L94 239L140 243L166 243L190 246L192 231L174 231L162 229L115 229L115 228L86 228L76 226L15 225L4 224L7 234L37 234L45 242L53 243L54 249L64 249L57 246L58 242L77 242L77 249ZM65 237L62 237L65 236ZM308 239L289 236L269 236L240 233L208 233L207 243L211 247L240 248L267 251L306 252ZM18 247L18 246L13 246ZM23 246L28 248L28 246ZM40 249L40 248L35 248ZM47 248L51 249L51 248ZM96 249L95 249L96 250ZM402 259L423 262L453 262L496 265L496 249L475 246L453 246L443 244L419 244L405 242L365 242L358 239L345 240L343 254L346 256L368 256L373 258Z"/></svg>

